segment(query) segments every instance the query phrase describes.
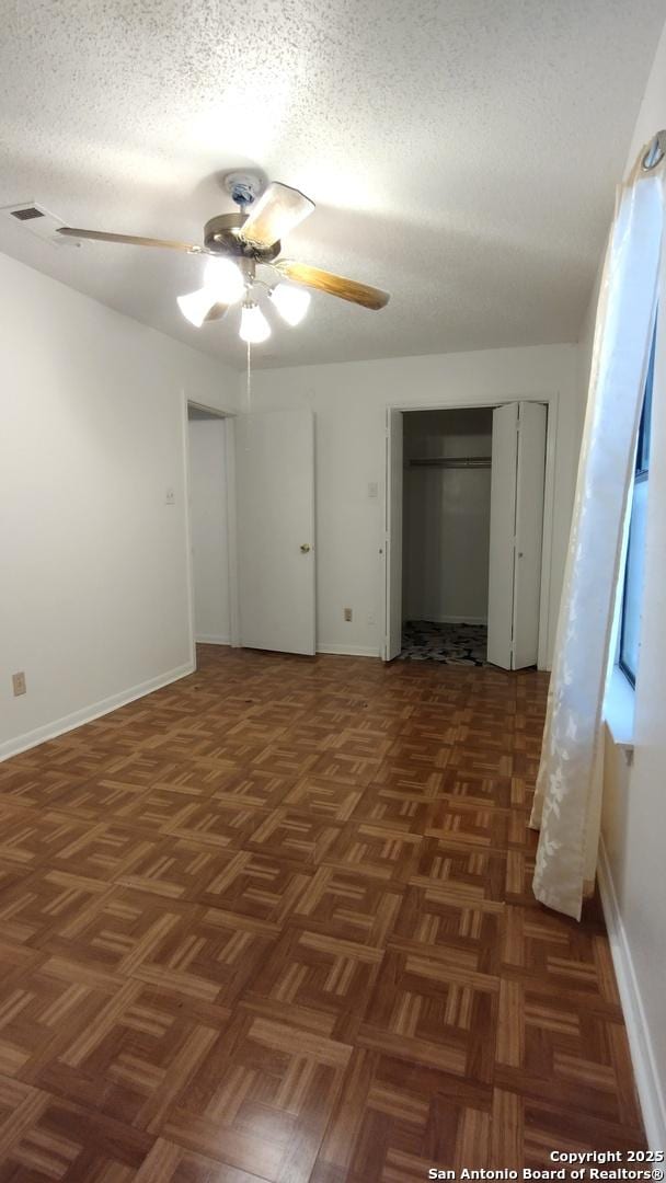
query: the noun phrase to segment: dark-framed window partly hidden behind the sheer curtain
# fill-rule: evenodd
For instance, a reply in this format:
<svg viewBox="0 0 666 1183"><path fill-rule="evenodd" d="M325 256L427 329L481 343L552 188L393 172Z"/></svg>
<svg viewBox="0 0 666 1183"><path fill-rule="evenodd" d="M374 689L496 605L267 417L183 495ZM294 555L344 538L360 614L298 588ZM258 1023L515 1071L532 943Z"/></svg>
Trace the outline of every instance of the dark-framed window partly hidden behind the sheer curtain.
<svg viewBox="0 0 666 1183"><path fill-rule="evenodd" d="M629 542L625 567L625 590L622 595L622 623L620 631L620 668L632 686L636 683L639 659L639 632L645 578L645 525L647 516L647 478L649 473L649 434L652 414L652 384L654 376L654 343L652 338L649 362L645 381L645 394L636 446L636 470L629 522Z"/></svg>

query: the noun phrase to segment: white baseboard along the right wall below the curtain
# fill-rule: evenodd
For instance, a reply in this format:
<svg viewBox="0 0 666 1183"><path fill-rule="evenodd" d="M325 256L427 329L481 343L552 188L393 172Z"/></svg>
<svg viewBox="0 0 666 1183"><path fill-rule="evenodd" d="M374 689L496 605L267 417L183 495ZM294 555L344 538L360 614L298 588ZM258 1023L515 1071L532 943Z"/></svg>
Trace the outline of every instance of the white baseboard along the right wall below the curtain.
<svg viewBox="0 0 666 1183"><path fill-rule="evenodd" d="M597 878L647 1143L651 1150L664 1150L666 1146L666 1099L661 1091L654 1048L603 838L599 846Z"/></svg>

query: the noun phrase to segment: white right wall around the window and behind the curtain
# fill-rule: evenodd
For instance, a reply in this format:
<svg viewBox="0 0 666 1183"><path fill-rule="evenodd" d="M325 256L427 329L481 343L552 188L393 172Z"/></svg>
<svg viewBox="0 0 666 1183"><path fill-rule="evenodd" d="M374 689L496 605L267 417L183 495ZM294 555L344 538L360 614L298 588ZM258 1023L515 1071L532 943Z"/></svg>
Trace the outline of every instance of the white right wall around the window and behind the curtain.
<svg viewBox="0 0 666 1183"><path fill-rule="evenodd" d="M666 30L627 160L666 128ZM634 703L634 763L607 744L606 904L648 1136L666 1145L666 257L654 371L646 584ZM584 347L583 347L584 348ZM613 899L614 897L614 899Z"/></svg>

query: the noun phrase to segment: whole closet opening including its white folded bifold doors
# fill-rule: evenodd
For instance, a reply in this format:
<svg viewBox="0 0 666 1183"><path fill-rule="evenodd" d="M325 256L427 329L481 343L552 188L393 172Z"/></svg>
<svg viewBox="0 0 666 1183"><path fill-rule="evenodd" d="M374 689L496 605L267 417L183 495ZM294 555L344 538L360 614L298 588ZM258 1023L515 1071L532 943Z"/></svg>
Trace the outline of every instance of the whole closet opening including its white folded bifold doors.
<svg viewBox="0 0 666 1183"><path fill-rule="evenodd" d="M551 437L536 400L388 408L384 660L544 667Z"/></svg>

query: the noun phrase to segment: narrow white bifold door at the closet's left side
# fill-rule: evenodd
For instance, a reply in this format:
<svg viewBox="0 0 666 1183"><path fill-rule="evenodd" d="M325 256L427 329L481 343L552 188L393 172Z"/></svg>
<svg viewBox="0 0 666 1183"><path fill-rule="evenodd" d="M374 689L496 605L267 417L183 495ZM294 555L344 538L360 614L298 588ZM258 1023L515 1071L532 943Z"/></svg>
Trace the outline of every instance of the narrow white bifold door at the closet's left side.
<svg viewBox="0 0 666 1183"><path fill-rule="evenodd" d="M402 412L388 411L386 432L384 661L393 661L402 648Z"/></svg>

